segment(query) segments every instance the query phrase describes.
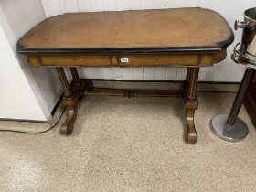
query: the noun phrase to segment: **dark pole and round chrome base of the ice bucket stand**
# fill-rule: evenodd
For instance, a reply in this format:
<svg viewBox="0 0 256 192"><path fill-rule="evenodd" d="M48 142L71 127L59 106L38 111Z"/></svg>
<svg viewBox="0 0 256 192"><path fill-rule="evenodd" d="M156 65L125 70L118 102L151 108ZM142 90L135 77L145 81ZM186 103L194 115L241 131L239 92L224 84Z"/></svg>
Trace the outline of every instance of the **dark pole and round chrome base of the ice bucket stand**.
<svg viewBox="0 0 256 192"><path fill-rule="evenodd" d="M248 126L238 117L238 115L253 73L253 69L246 69L229 115L219 114L211 120L212 132L223 140L238 142L244 139L249 132Z"/></svg>

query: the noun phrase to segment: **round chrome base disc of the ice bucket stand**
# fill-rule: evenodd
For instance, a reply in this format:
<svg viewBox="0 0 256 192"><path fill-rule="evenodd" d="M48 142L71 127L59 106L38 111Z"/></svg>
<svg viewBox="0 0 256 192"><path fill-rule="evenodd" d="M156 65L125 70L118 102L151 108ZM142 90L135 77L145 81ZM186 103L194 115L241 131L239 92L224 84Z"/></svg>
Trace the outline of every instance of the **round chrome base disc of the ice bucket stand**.
<svg viewBox="0 0 256 192"><path fill-rule="evenodd" d="M228 142L239 142L248 134L248 126L239 117L233 126L227 124L229 115L218 114L211 120L211 131L220 139Z"/></svg>

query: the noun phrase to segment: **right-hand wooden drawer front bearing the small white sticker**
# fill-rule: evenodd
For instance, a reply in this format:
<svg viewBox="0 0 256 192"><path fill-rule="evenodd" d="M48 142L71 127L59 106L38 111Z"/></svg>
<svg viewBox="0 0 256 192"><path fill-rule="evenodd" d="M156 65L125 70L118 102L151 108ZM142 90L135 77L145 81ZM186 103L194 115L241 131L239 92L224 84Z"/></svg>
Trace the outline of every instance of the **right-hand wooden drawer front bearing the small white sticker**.
<svg viewBox="0 0 256 192"><path fill-rule="evenodd" d="M197 55L122 55L118 56L119 66L197 66Z"/></svg>

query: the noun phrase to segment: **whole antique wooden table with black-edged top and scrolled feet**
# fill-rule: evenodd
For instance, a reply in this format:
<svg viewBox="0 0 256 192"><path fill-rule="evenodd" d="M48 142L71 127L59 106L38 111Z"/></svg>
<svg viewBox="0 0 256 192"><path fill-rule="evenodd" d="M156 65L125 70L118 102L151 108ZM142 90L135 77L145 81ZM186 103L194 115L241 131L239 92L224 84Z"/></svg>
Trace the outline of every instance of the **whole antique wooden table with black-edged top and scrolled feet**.
<svg viewBox="0 0 256 192"><path fill-rule="evenodd" d="M32 66L54 67L59 73L68 107L60 133L71 134L82 95L185 97L187 140L197 142L194 113L198 107L200 67L226 57L234 36L228 23L203 8L72 13L53 16L31 29L17 43ZM80 79L76 67L186 67L183 91L101 91ZM69 84L63 67L69 67ZM90 121L90 120L88 120Z"/></svg>

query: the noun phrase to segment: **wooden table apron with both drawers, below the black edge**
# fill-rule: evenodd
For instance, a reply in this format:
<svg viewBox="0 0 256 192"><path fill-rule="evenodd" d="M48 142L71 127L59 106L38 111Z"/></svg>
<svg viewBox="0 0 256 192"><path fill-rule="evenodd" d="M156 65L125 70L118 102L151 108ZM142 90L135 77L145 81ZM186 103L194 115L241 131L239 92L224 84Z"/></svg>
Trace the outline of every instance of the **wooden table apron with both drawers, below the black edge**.
<svg viewBox="0 0 256 192"><path fill-rule="evenodd" d="M226 57L226 49L206 54L46 54L26 55L32 66L45 67L197 67Z"/></svg>

